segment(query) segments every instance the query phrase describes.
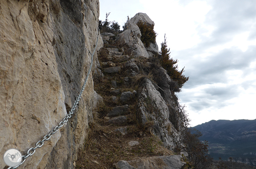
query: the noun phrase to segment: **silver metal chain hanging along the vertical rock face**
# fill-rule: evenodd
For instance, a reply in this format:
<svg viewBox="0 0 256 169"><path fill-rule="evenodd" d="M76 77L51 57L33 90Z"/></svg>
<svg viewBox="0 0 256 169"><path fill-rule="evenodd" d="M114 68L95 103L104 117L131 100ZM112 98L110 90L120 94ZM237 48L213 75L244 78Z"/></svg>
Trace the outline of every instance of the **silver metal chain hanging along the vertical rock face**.
<svg viewBox="0 0 256 169"><path fill-rule="evenodd" d="M92 68L92 65L93 65L93 55L94 55L94 53L95 53L95 50L96 50L96 47L97 47L97 44L98 44L99 35L100 35L100 29L98 28L98 36L97 36L97 41L96 41L95 48L93 49L93 53L91 53L91 52L89 51L89 54L91 55L91 65L90 65L90 68L89 68L89 70L88 70L88 73L87 73L87 76L86 76L86 78L85 78L85 81L84 81L84 83L83 83L83 86L82 86L82 88L81 88L81 91L80 91L78 97L76 98L76 101L75 101L75 103L74 103L72 109L68 112L68 114L66 115L66 117L63 118L63 120L59 123L59 125L57 125L52 131L50 131L47 135L45 135L45 136L43 137L43 140L38 141L38 142L35 144L35 145L36 145L35 147L32 147L32 148L28 149L27 154L25 154L25 156L22 156L23 161L22 161L18 166L22 165L22 164L26 161L26 159L27 159L29 156L32 156L32 155L35 153L35 149L42 147L43 144L44 144L44 142L47 141L47 140L49 140L49 139L52 137L52 135L53 135L54 133L56 133L56 132L59 130L59 128L63 127L64 123L68 122L68 119L71 118L71 116L72 116L72 114L74 113L74 110L75 110L75 108L76 108L78 102L80 101L80 98L81 98L81 96L82 96L82 94L83 94L83 90L85 89L85 85L86 85L87 80L88 80L88 77L89 77L89 75L90 75L91 68ZM15 169L15 168L17 168L18 166L16 166L16 167L8 167L8 169Z"/></svg>

